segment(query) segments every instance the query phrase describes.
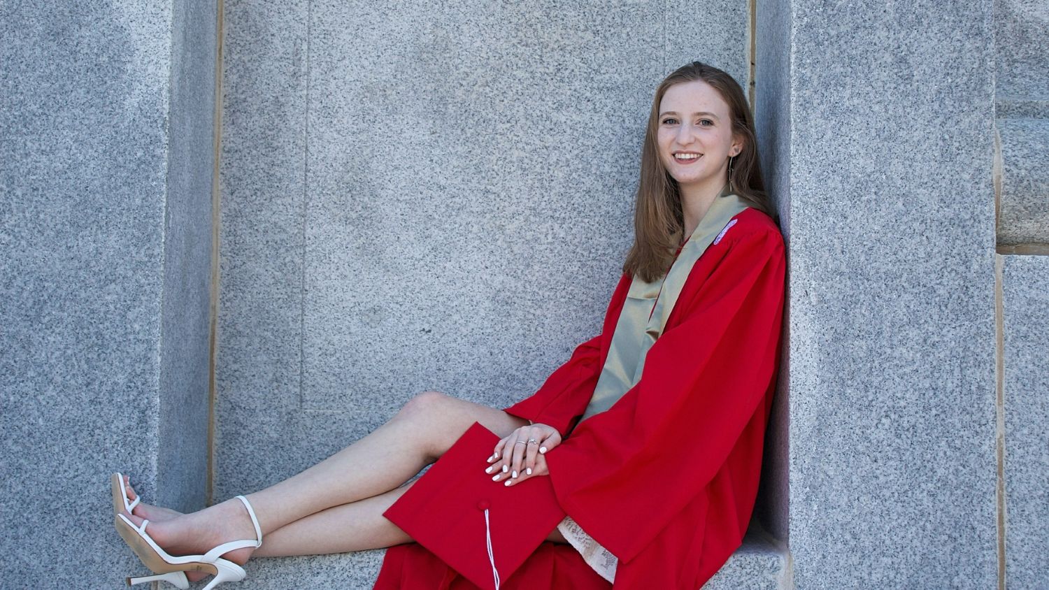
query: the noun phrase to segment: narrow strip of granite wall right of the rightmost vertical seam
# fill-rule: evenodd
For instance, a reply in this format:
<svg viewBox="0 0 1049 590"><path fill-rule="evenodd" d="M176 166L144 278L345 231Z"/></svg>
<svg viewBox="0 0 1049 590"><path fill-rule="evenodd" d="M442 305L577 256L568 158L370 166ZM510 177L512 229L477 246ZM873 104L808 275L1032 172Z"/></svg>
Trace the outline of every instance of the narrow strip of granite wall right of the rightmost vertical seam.
<svg viewBox="0 0 1049 590"><path fill-rule="evenodd" d="M1049 6L996 0L994 45L1001 577L1008 588L1044 588L1049 581Z"/></svg>

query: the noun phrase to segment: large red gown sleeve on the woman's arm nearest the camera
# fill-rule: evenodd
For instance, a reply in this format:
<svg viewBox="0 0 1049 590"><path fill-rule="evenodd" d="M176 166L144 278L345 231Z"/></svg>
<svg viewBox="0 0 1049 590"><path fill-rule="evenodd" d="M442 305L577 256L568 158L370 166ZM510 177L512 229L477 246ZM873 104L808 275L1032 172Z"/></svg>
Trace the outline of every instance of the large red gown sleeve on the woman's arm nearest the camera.
<svg viewBox="0 0 1049 590"><path fill-rule="evenodd" d="M737 236L679 300L638 384L547 453L561 507L621 562L703 493L769 391L785 268L777 231Z"/></svg>

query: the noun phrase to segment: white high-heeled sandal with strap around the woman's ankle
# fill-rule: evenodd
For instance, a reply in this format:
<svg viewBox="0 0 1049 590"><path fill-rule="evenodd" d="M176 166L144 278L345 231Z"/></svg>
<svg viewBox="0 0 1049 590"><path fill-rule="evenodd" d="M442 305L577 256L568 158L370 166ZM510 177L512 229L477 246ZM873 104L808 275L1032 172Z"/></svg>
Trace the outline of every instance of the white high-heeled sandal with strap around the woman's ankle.
<svg viewBox="0 0 1049 590"><path fill-rule="evenodd" d="M202 555L170 555L146 532L146 526L149 525L148 520L143 521L142 526L135 526L124 515L116 515L116 531L121 533L121 538L138 555L138 559L146 567L153 573L159 574L145 577L129 577L128 584L164 580L175 584L179 588L184 588L177 582L178 576L175 572L181 573L186 571L202 571L215 576L208 586L204 587L204 590L212 590L212 588L223 582L240 582L243 580L248 575L244 568L229 560L223 560L221 555L244 547L261 547L262 529L259 527L258 518L255 517L255 510L252 509L252 505L248 502L248 499L243 496L237 496L237 499L244 504L244 508L248 508L248 515L252 518L252 524L255 525L255 540L242 539L240 541L222 543ZM185 578L186 575L183 574L183 580ZM186 587L189 587L188 582Z"/></svg>

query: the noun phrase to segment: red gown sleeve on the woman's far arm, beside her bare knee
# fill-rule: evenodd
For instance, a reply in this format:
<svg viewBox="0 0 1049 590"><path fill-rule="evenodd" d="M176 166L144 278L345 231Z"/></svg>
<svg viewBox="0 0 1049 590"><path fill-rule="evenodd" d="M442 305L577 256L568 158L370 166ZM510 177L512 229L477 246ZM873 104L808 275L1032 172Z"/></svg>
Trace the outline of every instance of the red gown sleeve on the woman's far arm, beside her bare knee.
<svg viewBox="0 0 1049 590"><path fill-rule="evenodd" d="M609 309L617 304L622 306L630 282L627 277L620 278L613 292ZM605 330L608 330L608 314L605 314ZM613 330L615 324L612 325ZM601 374L602 359L609 338L597 335L576 347L572 356L557 368L533 395L504 408L502 411L514 416L549 424L557 429L561 438L568 436L576 419L586 411L598 376Z"/></svg>

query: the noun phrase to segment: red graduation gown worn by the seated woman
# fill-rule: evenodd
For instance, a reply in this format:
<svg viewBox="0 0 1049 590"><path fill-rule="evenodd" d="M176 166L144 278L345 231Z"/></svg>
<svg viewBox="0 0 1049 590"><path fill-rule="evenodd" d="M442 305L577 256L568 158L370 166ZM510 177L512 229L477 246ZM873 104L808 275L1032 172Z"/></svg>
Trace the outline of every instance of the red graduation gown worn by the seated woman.
<svg viewBox="0 0 1049 590"><path fill-rule="evenodd" d="M578 421L630 286L626 275L601 335L579 345L534 395L505 409L561 433L561 444L545 455L549 482L561 508L618 558L615 590L699 589L740 547L750 521L779 356L786 260L768 216L747 209L734 219L693 265L641 379L611 409ZM501 587L609 584L571 546L543 542ZM476 586L412 543L387 550L374 588Z"/></svg>

